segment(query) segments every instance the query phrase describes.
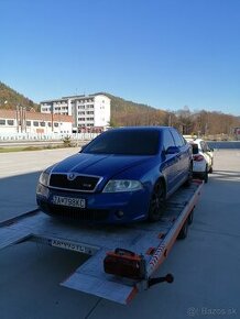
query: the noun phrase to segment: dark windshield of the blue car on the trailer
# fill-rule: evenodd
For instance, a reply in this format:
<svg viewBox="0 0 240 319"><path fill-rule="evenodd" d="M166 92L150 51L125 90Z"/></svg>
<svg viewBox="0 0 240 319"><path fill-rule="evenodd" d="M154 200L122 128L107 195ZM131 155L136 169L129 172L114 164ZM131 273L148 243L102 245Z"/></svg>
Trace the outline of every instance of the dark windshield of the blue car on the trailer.
<svg viewBox="0 0 240 319"><path fill-rule="evenodd" d="M83 153L154 155L159 151L160 133L154 130L108 131L96 138Z"/></svg>

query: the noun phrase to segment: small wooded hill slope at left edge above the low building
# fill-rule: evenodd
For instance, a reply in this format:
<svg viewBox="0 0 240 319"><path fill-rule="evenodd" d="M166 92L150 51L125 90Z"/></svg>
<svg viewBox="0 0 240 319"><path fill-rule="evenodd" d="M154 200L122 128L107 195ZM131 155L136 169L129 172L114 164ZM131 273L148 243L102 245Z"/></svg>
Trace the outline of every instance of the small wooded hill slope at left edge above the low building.
<svg viewBox="0 0 240 319"><path fill-rule="evenodd" d="M15 110L17 106L39 110L39 105L0 81L0 108Z"/></svg>

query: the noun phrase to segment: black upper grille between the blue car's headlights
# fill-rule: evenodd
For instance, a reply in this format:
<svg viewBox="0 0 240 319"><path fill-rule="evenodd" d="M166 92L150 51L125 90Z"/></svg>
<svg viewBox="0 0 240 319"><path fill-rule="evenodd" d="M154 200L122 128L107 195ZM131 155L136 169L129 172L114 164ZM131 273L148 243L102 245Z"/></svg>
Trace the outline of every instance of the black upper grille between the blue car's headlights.
<svg viewBox="0 0 240 319"><path fill-rule="evenodd" d="M73 189L78 191L95 191L100 177L76 175L69 179L70 174L51 174L50 187Z"/></svg>

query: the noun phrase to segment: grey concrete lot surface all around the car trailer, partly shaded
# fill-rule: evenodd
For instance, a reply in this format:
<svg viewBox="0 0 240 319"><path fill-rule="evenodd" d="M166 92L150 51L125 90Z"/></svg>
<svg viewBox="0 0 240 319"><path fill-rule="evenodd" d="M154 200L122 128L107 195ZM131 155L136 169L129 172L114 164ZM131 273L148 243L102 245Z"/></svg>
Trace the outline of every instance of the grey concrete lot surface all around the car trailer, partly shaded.
<svg viewBox="0 0 240 319"><path fill-rule="evenodd" d="M0 221L36 208L40 172L77 148L0 155ZM216 151L188 238L175 243L159 275L172 285L128 306L59 286L87 257L25 242L0 251L0 318L240 318L240 151Z"/></svg>

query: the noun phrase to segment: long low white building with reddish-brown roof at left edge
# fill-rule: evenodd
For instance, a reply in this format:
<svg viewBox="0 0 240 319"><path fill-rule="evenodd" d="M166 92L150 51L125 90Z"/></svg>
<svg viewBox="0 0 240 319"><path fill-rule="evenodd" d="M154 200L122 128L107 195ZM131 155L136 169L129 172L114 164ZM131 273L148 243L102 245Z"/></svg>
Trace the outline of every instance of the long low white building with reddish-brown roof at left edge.
<svg viewBox="0 0 240 319"><path fill-rule="evenodd" d="M0 134L70 134L72 132L73 117L70 116L30 112L24 108L19 110L0 109Z"/></svg>

